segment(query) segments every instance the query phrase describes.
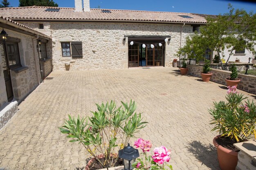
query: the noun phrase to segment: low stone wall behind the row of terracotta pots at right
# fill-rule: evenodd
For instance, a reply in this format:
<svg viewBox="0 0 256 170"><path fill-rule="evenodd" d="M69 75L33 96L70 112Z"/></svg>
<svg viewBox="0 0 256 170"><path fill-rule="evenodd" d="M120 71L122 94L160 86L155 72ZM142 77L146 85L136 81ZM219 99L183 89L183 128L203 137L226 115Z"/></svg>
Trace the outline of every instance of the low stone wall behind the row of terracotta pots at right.
<svg viewBox="0 0 256 170"><path fill-rule="evenodd" d="M201 77L201 73L203 70L202 66L193 66L193 65L188 65L189 75L193 75L196 77ZM218 70L218 69L212 69L211 73L213 75L211 76L211 81L216 82L219 84L227 85L225 79L229 77L230 71L225 71L225 70ZM247 91L249 93L254 93L256 94L256 76L253 75L244 75L244 74L238 74L238 79L241 80L238 84L238 89L241 89L243 91Z"/></svg>

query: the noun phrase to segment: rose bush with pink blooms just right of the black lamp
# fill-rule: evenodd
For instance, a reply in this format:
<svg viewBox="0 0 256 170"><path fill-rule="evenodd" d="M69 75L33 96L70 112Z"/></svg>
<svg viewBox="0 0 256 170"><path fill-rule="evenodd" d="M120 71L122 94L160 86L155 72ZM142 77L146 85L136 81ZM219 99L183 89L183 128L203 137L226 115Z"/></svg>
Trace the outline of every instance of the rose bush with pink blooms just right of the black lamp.
<svg viewBox="0 0 256 170"><path fill-rule="evenodd" d="M147 156L147 152L150 151L152 146L150 141L139 138L134 142L134 146L136 146L136 148L140 148L145 157L145 161L137 159L135 163L132 163L132 167L135 168L135 170L167 170L165 166L168 166L173 170L171 165L164 164L165 162L169 162L171 159L171 151L167 150L164 146L155 148L154 155L152 156Z"/></svg>

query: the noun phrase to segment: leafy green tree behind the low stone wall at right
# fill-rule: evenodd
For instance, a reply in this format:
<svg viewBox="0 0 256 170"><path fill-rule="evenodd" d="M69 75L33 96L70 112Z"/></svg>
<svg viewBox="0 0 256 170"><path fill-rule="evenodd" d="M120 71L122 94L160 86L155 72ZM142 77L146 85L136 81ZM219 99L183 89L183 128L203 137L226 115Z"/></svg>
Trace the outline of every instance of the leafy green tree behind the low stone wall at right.
<svg viewBox="0 0 256 170"><path fill-rule="evenodd" d="M256 14L252 11L247 13L243 9L235 10L231 4L228 4L228 9L229 13L218 15L216 18L208 17L207 25L200 27L200 36L190 36L184 46L190 46L191 51L195 51L195 47L202 50L208 47L216 51L223 70L221 58L225 57L225 49L229 52L226 64L235 49L247 49L256 54ZM191 42L198 45L195 46Z"/></svg>

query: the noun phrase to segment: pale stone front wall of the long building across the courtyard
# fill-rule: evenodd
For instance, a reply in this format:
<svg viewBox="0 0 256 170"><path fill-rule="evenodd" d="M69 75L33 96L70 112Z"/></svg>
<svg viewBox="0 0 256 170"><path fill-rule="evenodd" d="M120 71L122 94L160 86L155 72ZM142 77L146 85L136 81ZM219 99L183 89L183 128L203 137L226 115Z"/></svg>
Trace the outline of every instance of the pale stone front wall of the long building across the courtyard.
<svg viewBox="0 0 256 170"><path fill-rule="evenodd" d="M23 22L38 29L38 23ZM44 22L43 33L52 36L52 59L54 70L65 70L65 62L70 62L70 70L128 68L128 38L124 35L171 35L165 44L165 66L171 66L176 51L180 47L181 24L138 24L138 23L59 23ZM182 45L193 27L183 27ZM83 57L62 57L61 42L81 41Z"/></svg>

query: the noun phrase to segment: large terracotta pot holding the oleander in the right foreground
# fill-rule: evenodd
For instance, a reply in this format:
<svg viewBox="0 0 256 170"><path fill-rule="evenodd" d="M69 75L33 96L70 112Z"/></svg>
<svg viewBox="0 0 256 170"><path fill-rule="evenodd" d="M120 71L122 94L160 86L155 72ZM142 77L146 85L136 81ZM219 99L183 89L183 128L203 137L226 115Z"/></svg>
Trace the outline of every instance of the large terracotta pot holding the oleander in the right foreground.
<svg viewBox="0 0 256 170"><path fill-rule="evenodd" d="M216 139L220 137L220 135L216 136L213 139L213 144L217 148L218 161L221 170L236 170L236 165L238 162L238 152L226 149L220 146Z"/></svg>

